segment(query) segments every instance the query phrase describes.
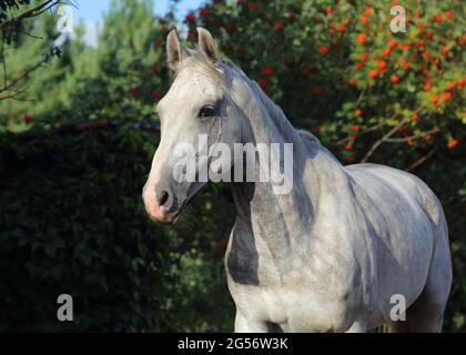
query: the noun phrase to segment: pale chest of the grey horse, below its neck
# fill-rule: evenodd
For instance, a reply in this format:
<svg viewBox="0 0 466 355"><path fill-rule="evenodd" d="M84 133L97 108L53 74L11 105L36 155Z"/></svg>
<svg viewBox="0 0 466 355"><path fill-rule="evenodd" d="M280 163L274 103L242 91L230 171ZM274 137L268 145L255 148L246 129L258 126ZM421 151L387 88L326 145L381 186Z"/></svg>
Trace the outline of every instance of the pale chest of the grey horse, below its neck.
<svg viewBox="0 0 466 355"><path fill-rule="evenodd" d="M308 257L304 247L295 247L297 253L292 244L277 248L262 232L254 224L237 223L233 230L225 267L236 307L284 329L331 332L348 326L359 287L347 256L334 252Z"/></svg>

